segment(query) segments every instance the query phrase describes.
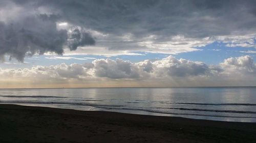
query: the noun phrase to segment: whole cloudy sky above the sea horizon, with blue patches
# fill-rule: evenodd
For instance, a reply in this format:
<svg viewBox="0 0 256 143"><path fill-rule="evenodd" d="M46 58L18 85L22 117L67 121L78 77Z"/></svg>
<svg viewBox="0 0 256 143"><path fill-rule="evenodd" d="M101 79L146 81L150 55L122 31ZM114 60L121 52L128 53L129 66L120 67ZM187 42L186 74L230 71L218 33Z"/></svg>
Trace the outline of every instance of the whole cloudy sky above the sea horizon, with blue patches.
<svg viewBox="0 0 256 143"><path fill-rule="evenodd" d="M0 88L256 86L256 1L0 1Z"/></svg>

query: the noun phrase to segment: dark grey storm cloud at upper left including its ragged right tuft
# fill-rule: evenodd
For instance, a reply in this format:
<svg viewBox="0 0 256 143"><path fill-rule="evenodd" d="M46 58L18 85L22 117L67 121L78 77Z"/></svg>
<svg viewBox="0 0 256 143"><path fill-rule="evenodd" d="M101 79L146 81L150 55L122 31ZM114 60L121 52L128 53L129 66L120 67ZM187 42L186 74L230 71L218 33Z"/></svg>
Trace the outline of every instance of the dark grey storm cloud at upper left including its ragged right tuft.
<svg viewBox="0 0 256 143"><path fill-rule="evenodd" d="M76 29L76 36L74 36L74 33L70 34L67 30L58 30L56 22L61 20L60 15L30 13L29 10L31 9L22 9L24 13L12 15L17 18L10 17L11 20L0 19L0 57L2 60L7 54L10 60L15 58L23 62L25 56L35 53L62 54L65 46L70 50L76 50L78 46L95 44L90 33Z"/></svg>

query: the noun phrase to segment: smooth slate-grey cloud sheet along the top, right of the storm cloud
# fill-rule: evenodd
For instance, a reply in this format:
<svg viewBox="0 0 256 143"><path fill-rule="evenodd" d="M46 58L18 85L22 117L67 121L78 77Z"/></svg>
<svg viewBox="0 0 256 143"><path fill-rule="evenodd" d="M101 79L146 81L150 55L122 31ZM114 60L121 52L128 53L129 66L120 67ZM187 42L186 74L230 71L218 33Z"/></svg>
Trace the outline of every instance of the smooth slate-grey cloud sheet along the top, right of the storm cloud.
<svg viewBox="0 0 256 143"><path fill-rule="evenodd" d="M255 1L25 2L23 5L56 9L57 14L75 25L114 34L204 38L256 28Z"/></svg>

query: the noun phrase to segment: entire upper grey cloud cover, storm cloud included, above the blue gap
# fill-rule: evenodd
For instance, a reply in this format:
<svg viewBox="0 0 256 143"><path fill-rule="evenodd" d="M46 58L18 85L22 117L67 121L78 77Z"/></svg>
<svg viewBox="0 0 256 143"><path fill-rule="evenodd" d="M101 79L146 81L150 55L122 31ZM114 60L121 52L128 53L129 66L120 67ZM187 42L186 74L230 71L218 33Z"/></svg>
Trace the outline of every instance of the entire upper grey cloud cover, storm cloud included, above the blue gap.
<svg viewBox="0 0 256 143"><path fill-rule="evenodd" d="M0 56L23 61L26 55L62 54L64 48L76 50L95 40L110 51L180 53L214 41L256 47L255 5L210 0L1 1ZM58 22L71 28L58 28Z"/></svg>

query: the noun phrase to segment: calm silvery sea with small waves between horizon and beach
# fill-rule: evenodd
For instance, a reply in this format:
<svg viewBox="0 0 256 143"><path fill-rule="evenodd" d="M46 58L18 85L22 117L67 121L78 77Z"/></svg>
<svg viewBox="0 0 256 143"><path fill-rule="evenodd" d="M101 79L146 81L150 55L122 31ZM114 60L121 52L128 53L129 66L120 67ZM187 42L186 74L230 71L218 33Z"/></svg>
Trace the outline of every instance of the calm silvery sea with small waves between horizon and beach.
<svg viewBox="0 0 256 143"><path fill-rule="evenodd" d="M1 89L0 103L256 122L256 88Z"/></svg>

